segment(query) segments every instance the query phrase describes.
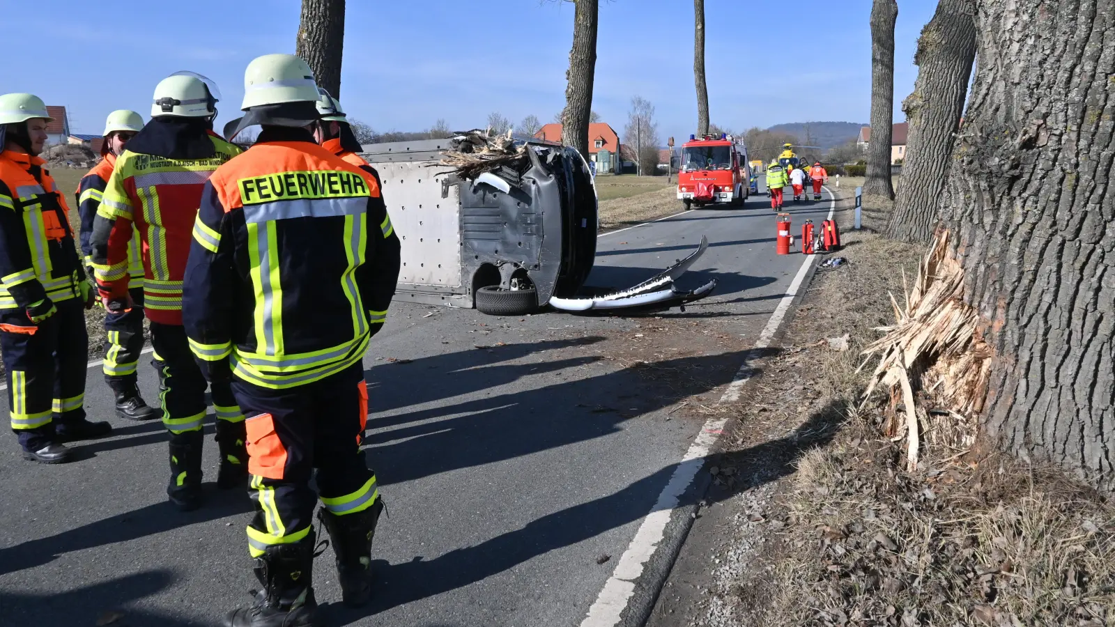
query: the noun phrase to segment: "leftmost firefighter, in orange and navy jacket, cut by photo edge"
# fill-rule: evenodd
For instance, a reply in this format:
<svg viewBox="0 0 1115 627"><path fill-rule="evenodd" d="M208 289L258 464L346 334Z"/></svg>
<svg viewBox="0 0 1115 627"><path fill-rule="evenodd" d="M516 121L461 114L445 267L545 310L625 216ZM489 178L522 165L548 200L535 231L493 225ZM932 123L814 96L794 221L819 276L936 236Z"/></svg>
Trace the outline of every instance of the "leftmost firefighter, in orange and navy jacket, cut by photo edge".
<svg viewBox="0 0 1115 627"><path fill-rule="evenodd" d="M106 422L86 419L94 293L81 269L69 208L39 157L47 141L42 100L0 96L0 353L11 428L27 460L69 461L61 443L100 437Z"/></svg>

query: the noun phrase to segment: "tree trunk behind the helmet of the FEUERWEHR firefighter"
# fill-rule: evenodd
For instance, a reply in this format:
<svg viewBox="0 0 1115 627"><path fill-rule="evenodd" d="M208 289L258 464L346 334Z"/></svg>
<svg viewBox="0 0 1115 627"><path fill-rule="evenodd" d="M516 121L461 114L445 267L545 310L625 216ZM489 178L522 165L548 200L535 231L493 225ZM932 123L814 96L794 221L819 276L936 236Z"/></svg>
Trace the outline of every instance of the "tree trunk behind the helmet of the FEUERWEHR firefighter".
<svg viewBox="0 0 1115 627"><path fill-rule="evenodd" d="M318 87L341 97L341 51L345 48L345 0L302 0L294 54L313 70Z"/></svg>

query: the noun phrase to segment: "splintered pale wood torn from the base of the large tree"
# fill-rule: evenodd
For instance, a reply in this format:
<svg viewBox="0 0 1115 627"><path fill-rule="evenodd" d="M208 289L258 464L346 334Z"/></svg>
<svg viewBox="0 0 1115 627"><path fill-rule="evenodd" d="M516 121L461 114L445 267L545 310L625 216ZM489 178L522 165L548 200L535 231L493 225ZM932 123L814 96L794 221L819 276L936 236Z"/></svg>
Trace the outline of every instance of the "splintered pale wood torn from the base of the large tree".
<svg viewBox="0 0 1115 627"><path fill-rule="evenodd" d="M921 262L913 289L904 290L905 307L900 307L891 295L895 324L878 327L886 335L863 350L866 359L861 369L872 356L880 355L863 406L880 384L892 389L892 398L896 396L894 387L901 385L911 471L917 467L921 445L914 389L933 395L932 406L947 408L946 416L961 418L952 421L953 428L931 430L935 443L970 446L975 433L966 417L979 414L983 407L991 349L977 329L978 314L960 299L962 288L963 270L949 254L949 232L942 231ZM942 422L928 415L925 419ZM889 425L888 436L901 428L900 424Z"/></svg>

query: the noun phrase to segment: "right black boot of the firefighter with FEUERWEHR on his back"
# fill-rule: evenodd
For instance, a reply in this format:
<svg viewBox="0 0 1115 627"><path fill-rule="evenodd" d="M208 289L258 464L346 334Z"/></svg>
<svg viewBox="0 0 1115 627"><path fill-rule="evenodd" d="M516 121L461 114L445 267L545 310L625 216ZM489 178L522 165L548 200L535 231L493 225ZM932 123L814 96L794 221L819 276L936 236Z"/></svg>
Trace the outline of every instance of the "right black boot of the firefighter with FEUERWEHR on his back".
<svg viewBox="0 0 1115 627"><path fill-rule="evenodd" d="M324 523L337 553L341 600L349 607L360 607L371 599L371 540L382 511L379 498L370 508L353 514L337 515L326 509L318 510L318 518Z"/></svg>

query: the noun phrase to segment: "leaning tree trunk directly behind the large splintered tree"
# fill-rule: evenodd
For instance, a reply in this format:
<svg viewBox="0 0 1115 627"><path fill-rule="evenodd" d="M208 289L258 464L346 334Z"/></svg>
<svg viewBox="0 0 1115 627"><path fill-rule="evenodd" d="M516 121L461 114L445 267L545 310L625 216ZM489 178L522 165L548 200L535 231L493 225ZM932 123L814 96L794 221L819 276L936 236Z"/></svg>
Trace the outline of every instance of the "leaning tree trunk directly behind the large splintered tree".
<svg viewBox="0 0 1115 627"><path fill-rule="evenodd" d="M918 39L913 62L918 80L903 100L910 123L902 164L902 187L886 230L890 238L928 242L949 173L952 144L964 108L976 59L971 0L940 0Z"/></svg>

